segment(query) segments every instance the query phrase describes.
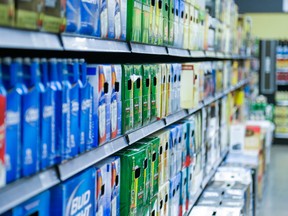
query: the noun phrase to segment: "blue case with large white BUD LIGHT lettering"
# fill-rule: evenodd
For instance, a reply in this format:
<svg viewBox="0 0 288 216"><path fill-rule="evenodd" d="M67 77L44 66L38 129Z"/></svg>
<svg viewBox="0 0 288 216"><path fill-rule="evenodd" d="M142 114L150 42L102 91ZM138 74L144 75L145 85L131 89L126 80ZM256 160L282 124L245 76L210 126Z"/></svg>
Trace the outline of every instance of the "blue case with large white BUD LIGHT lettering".
<svg viewBox="0 0 288 216"><path fill-rule="evenodd" d="M66 180L51 189L51 215L94 216L95 206L94 168Z"/></svg>

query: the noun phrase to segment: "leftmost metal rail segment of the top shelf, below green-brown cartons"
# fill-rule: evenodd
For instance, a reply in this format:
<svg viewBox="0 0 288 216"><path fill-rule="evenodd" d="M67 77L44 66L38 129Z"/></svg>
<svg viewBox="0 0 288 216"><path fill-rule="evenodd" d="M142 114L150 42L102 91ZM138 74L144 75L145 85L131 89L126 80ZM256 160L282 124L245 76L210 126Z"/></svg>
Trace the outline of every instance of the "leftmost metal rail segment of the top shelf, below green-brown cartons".
<svg viewBox="0 0 288 216"><path fill-rule="evenodd" d="M0 27L0 48L63 50L58 35Z"/></svg>

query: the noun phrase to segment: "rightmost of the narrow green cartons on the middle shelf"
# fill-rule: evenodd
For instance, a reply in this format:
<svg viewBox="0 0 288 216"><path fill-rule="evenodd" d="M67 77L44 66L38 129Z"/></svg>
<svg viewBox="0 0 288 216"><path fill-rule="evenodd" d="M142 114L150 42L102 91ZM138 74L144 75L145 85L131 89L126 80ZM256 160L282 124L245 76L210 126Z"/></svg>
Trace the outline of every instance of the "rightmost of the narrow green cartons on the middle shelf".
<svg viewBox="0 0 288 216"><path fill-rule="evenodd" d="M151 116L150 120L155 121L157 119L157 66L150 65L151 73Z"/></svg>

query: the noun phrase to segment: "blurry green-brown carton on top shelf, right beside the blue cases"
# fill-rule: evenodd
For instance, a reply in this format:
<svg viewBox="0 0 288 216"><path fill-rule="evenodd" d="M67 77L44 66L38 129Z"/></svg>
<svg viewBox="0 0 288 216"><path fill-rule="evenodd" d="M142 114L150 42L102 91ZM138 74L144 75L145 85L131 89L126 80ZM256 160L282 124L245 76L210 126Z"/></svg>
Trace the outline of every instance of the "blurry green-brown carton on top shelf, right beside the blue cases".
<svg viewBox="0 0 288 216"><path fill-rule="evenodd" d="M43 23L42 29L48 32L63 32L65 30L66 19L66 1L55 0L55 4L51 4L51 1L44 0L43 10Z"/></svg>

